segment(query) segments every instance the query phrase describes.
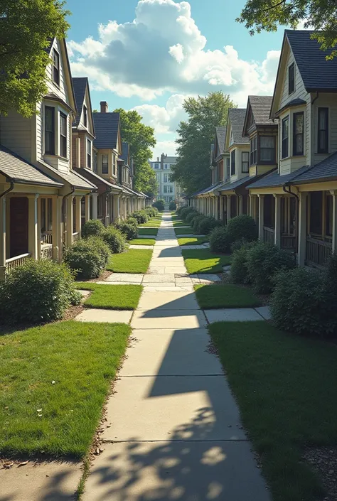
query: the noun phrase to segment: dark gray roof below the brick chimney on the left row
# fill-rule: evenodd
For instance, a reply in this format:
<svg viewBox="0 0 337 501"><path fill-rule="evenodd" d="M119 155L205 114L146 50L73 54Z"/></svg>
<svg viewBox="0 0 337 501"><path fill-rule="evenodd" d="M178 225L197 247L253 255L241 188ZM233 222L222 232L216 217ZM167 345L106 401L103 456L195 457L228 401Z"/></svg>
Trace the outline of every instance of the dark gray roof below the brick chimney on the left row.
<svg viewBox="0 0 337 501"><path fill-rule="evenodd" d="M97 149L114 149L117 147L119 113L93 113Z"/></svg>

